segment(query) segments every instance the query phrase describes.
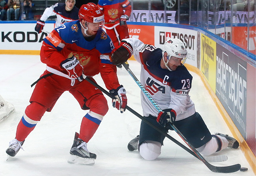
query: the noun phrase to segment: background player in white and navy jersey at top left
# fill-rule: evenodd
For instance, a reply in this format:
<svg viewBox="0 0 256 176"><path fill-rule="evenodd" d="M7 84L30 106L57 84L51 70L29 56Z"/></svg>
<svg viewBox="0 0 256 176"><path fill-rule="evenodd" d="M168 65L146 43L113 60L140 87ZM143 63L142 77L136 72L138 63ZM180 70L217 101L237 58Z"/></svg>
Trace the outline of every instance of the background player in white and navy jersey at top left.
<svg viewBox="0 0 256 176"><path fill-rule="evenodd" d="M43 15L37 20L37 25L34 30L38 34L44 29L45 21L53 15L56 15L57 20L55 27L62 25L65 22L78 20L79 9L75 6L75 0L66 0L66 3L56 3L44 10Z"/></svg>

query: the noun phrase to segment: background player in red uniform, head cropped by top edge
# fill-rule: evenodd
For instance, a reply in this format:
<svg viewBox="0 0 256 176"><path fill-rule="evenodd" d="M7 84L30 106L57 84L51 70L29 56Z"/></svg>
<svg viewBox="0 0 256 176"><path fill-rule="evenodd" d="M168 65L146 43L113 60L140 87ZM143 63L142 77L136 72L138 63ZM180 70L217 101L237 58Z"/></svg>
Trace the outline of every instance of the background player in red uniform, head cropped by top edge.
<svg viewBox="0 0 256 176"><path fill-rule="evenodd" d="M98 6L105 15L106 33L117 48L122 39L129 38L126 20L131 15L130 2L128 0L99 0Z"/></svg>

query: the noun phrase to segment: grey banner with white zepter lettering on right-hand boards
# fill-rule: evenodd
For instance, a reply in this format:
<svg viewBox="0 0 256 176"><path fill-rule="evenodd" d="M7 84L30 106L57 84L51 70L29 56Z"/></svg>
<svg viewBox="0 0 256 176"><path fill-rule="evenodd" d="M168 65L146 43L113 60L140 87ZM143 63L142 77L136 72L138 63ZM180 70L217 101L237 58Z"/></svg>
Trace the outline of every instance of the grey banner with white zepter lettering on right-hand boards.
<svg viewBox="0 0 256 176"><path fill-rule="evenodd" d="M247 62L219 44L216 49L216 96L246 139Z"/></svg>

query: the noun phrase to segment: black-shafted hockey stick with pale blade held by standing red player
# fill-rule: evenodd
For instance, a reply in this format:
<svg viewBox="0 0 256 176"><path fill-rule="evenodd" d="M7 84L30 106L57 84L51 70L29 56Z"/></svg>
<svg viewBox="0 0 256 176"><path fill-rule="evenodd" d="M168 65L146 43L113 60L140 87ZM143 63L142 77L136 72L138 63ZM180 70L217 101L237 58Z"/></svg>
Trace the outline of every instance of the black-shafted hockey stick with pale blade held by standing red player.
<svg viewBox="0 0 256 176"><path fill-rule="evenodd" d="M112 96L108 91L106 91L105 89L103 89L101 86L99 86L97 83L95 83L94 81L92 81L90 78L86 77L85 75L83 75L84 80L87 80L89 83L91 83L92 85L94 85L96 88L98 88L99 90L101 90L103 93L105 93L107 96L109 96L111 99L115 99L115 96ZM190 154L192 154L194 157L196 157L197 159L200 160L200 158L193 152L191 151L189 148L187 148L185 145L181 144L180 142L178 142L176 139L174 139L172 136L170 136L169 134L163 132L162 130L160 130L158 127L156 127L155 125L151 124L145 117L141 116L139 113L137 113L136 111L134 111L132 108L130 108L129 106L126 106L126 109L128 111L130 111L132 114L136 115L137 117L139 117L141 120L143 120L146 124L148 124L150 127L152 127L153 129L157 130L159 133L161 133L162 135L164 135L165 137L169 138L170 140L172 140L173 142L175 142L177 145L179 145L181 148L183 148L184 150L186 150L187 152L189 152ZM221 161L227 161L228 157L226 155L219 155L219 156L214 156L214 157L206 157L206 160L209 162L221 162Z"/></svg>

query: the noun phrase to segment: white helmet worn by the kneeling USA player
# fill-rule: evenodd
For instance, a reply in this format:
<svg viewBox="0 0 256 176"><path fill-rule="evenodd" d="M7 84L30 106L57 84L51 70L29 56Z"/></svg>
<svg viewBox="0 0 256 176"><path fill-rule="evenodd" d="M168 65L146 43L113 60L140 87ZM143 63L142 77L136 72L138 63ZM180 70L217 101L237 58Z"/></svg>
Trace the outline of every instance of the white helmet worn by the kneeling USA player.
<svg viewBox="0 0 256 176"><path fill-rule="evenodd" d="M186 58L187 57L187 49L184 46L184 43L178 38L169 38L165 41L162 47L162 56L167 52L167 59L169 60L171 56L177 58Z"/></svg>

